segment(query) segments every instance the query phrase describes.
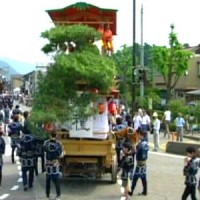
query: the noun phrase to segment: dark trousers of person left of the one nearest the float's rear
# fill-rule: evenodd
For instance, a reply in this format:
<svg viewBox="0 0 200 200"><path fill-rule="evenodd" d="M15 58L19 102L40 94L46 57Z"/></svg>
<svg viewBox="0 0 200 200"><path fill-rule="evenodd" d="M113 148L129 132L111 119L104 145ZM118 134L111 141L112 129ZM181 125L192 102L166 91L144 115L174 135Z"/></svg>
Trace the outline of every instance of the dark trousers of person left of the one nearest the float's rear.
<svg viewBox="0 0 200 200"><path fill-rule="evenodd" d="M22 180L23 180L24 187L33 186L34 167L22 167Z"/></svg>

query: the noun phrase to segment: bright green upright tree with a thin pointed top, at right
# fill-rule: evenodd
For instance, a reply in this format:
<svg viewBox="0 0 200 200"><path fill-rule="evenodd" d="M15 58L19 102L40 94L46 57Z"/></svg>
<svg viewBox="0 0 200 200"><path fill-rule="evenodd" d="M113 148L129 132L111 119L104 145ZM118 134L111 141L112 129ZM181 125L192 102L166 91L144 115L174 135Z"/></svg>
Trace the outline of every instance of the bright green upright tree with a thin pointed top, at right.
<svg viewBox="0 0 200 200"><path fill-rule="evenodd" d="M188 61L193 55L191 51L184 49L173 29L174 25L171 25L171 32L169 34L170 47L154 46L152 50L152 65L164 79L167 101L170 100L172 91L179 78L188 69Z"/></svg>

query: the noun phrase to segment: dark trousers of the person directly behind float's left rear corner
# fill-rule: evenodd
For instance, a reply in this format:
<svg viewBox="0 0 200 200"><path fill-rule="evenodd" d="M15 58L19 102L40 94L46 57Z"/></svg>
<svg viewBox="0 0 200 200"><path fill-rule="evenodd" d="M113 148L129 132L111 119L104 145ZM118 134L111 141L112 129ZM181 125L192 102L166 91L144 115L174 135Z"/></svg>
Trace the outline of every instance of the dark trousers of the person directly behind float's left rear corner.
<svg viewBox="0 0 200 200"><path fill-rule="evenodd" d="M55 175L46 175L46 195L49 197L50 195L50 189L51 189L51 181L53 181L55 188L56 188L56 195L57 197L60 197L60 177L58 174Z"/></svg>

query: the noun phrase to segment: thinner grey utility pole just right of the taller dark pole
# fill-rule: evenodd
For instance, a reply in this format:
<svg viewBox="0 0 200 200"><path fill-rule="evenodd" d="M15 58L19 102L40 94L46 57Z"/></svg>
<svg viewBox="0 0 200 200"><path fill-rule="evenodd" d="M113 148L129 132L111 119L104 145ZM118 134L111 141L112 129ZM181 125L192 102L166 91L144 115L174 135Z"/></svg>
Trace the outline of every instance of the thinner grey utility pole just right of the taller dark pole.
<svg viewBox="0 0 200 200"><path fill-rule="evenodd" d="M145 73L144 69L144 44L143 44L143 5L141 6L141 16L140 16L140 24L141 24L141 43L140 43L140 66L142 68L143 74ZM144 78L144 77L143 77ZM144 79L140 80L140 97L144 97Z"/></svg>

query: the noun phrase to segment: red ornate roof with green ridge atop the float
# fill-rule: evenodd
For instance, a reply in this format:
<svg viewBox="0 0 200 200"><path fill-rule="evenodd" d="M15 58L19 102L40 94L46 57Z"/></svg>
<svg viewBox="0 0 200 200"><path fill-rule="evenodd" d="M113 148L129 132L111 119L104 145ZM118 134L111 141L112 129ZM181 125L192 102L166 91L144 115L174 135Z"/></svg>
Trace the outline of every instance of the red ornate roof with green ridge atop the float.
<svg viewBox="0 0 200 200"><path fill-rule="evenodd" d="M99 8L97 6L78 2L70 6L46 11L54 24L87 24L96 29L100 24L109 24L113 35L116 35L117 10Z"/></svg>

